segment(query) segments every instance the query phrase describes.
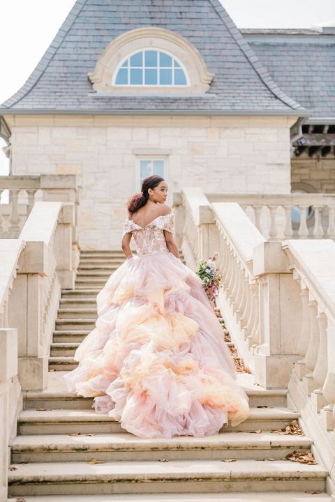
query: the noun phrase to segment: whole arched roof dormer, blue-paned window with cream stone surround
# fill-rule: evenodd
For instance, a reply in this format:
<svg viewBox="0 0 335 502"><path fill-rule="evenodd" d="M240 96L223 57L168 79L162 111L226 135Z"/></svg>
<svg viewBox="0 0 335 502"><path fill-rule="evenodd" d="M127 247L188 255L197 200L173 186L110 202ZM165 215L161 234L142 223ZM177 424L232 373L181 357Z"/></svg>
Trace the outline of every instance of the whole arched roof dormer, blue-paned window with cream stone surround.
<svg viewBox="0 0 335 502"><path fill-rule="evenodd" d="M186 38L161 28L139 28L113 40L89 79L97 93L204 94L214 75Z"/></svg>

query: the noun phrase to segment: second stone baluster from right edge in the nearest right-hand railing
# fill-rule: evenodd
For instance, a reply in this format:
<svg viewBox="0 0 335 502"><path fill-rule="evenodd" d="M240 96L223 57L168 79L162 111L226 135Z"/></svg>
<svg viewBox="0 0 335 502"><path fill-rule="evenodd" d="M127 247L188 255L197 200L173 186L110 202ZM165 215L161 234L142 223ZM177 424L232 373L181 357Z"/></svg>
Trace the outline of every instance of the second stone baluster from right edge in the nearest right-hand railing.
<svg viewBox="0 0 335 502"><path fill-rule="evenodd" d="M312 402L315 405L316 411L320 411L322 406L327 404L325 398L322 394L322 387L325 383L328 363L327 363L327 317L324 312L320 312L317 316L318 324L319 324L319 333L320 333L320 343L319 343L319 351L318 351L318 360L316 362L313 378L320 386L318 389L314 391L312 394Z"/></svg>

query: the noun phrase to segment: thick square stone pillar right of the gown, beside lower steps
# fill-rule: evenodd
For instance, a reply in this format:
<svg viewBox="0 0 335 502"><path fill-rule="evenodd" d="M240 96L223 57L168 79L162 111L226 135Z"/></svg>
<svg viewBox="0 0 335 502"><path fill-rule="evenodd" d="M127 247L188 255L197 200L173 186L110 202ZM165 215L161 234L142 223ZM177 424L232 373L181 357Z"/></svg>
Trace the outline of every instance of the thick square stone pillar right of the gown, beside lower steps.
<svg viewBox="0 0 335 502"><path fill-rule="evenodd" d="M253 252L258 276L260 347L255 353L255 381L266 388L285 388L299 359L300 290L279 242L265 242Z"/></svg>

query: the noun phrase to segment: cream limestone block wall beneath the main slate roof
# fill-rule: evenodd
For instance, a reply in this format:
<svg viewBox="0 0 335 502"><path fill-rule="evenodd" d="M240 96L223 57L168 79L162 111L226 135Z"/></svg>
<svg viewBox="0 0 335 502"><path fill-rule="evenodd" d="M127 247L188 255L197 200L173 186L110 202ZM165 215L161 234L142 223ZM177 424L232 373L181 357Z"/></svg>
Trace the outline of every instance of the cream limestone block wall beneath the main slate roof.
<svg viewBox="0 0 335 502"><path fill-rule="evenodd" d="M73 174L83 187L83 249L119 248L137 160L165 158L170 192L290 192L287 117L21 116L10 119L12 174ZM170 202L172 200L170 199Z"/></svg>

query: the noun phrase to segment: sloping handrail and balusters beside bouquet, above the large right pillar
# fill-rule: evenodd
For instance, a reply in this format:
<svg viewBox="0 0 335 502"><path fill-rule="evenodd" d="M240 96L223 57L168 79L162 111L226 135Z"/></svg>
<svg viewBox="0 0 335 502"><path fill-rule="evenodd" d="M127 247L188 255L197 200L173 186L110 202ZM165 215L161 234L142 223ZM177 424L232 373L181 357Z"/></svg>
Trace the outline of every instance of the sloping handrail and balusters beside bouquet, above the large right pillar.
<svg viewBox="0 0 335 502"><path fill-rule="evenodd" d="M258 280L253 276L253 249L265 238L236 203L211 204L220 248L218 267L223 287L217 304L241 357L254 369L253 355L260 345Z"/></svg>

